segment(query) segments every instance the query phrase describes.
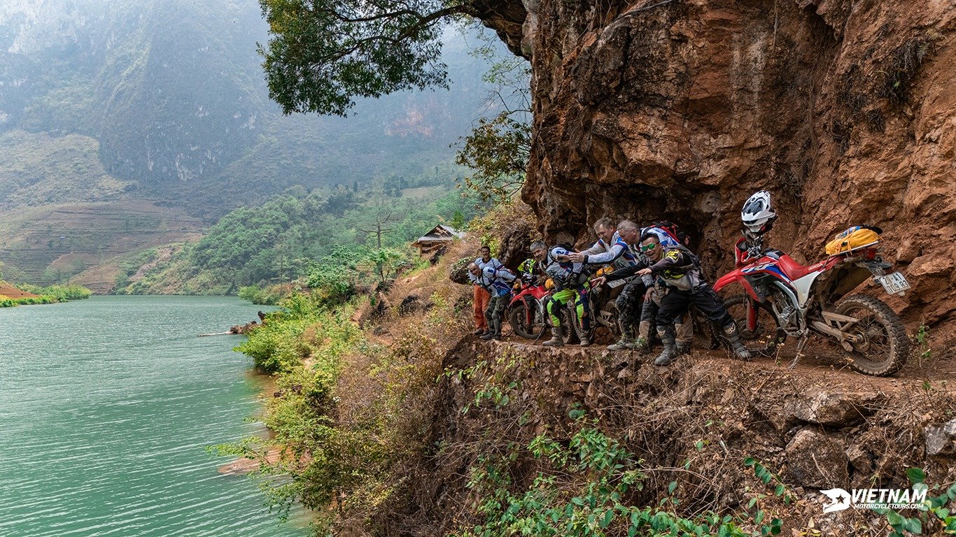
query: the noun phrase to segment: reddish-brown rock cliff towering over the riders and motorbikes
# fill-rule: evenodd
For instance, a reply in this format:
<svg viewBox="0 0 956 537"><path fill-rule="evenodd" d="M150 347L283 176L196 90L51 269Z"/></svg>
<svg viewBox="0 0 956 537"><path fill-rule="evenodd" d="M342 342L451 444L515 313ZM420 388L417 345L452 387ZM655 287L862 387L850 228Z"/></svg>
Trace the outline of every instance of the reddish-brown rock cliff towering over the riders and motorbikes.
<svg viewBox="0 0 956 537"><path fill-rule="evenodd" d="M913 284L896 309L954 319L951 2L508 4L524 19L486 24L532 61L523 197L547 237L665 217L712 276L732 263L744 201L768 189L772 247L812 262L836 232L881 226Z"/></svg>

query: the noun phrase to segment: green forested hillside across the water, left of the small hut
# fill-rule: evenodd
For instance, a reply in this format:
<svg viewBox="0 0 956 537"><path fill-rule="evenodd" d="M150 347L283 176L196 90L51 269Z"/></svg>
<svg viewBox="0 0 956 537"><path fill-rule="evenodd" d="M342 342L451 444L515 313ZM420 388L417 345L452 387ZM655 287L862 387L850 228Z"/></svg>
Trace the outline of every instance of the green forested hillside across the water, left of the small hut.
<svg viewBox="0 0 956 537"><path fill-rule="evenodd" d="M196 244L128 256L115 292L235 293L289 282L329 259L393 250L404 257L407 244L431 227L462 226L479 208L474 198L441 184L405 192L291 188L260 206L229 212ZM378 224L381 237L374 231Z"/></svg>

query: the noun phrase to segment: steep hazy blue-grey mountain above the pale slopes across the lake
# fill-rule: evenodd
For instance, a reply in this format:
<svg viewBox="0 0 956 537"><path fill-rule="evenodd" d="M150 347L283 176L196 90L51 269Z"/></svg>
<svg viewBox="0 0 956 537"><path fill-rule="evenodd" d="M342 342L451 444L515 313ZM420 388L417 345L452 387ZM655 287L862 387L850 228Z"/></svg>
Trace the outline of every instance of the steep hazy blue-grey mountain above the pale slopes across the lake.
<svg viewBox="0 0 956 537"><path fill-rule="evenodd" d="M108 174L190 204L221 183L272 193L365 181L399 161L421 171L449 160L479 114L484 70L464 38L448 40L451 91L363 101L353 118L284 118L255 51L267 39L255 0L4 2L0 133L92 137ZM261 168L228 169L244 158ZM310 164L290 176L272 158Z"/></svg>

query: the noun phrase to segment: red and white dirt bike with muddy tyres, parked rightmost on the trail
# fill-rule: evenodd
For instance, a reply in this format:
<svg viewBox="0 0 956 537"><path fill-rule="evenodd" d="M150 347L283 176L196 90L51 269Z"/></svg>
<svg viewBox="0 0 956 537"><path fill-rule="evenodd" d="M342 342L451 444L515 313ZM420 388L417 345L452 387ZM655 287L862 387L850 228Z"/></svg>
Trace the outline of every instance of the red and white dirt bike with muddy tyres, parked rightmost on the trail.
<svg viewBox="0 0 956 537"><path fill-rule="evenodd" d="M902 273L886 273L892 265L883 261L876 243L804 267L780 250L764 249L761 239L742 249L743 241L734 248L737 269L717 280L714 290L733 283L744 288L725 304L751 354L769 356L793 336L798 338L793 367L816 333L835 341L860 373L889 376L902 369L909 339L899 315L873 296L844 298L871 277L890 294L909 289Z"/></svg>

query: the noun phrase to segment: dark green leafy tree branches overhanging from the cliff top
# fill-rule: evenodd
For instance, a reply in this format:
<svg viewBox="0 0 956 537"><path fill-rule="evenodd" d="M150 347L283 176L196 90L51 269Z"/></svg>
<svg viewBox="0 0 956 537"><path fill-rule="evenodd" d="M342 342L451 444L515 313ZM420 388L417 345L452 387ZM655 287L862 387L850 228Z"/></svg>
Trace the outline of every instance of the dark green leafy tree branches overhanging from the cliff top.
<svg viewBox="0 0 956 537"><path fill-rule="evenodd" d="M356 97L446 83L439 56L449 17L469 0L260 0L272 34L264 67L286 114L344 116Z"/></svg>

